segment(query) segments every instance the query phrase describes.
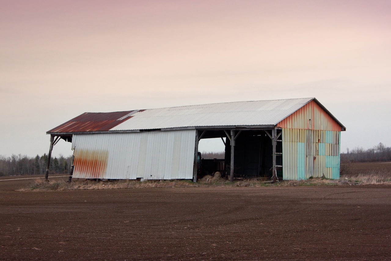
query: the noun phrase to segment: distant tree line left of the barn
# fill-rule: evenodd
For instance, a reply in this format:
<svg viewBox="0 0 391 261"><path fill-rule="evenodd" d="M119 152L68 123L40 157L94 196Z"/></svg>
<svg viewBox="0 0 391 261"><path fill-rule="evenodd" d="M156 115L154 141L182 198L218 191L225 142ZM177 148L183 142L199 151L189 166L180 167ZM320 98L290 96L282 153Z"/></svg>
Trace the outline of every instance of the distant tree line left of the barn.
<svg viewBox="0 0 391 261"><path fill-rule="evenodd" d="M45 174L48 156L29 157L22 154L12 154L10 157L0 155L0 176L39 175ZM72 165L72 156L51 158L49 171L51 173L69 174Z"/></svg>

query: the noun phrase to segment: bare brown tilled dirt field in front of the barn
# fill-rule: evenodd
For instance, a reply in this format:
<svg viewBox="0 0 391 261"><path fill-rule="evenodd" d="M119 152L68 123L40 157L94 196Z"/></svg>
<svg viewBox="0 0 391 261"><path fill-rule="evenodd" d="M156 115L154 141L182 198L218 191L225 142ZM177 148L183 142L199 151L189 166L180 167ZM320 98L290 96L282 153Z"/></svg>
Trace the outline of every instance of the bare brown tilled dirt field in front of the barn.
<svg viewBox="0 0 391 261"><path fill-rule="evenodd" d="M14 191L27 182L0 181L0 260L391 260L389 186Z"/></svg>

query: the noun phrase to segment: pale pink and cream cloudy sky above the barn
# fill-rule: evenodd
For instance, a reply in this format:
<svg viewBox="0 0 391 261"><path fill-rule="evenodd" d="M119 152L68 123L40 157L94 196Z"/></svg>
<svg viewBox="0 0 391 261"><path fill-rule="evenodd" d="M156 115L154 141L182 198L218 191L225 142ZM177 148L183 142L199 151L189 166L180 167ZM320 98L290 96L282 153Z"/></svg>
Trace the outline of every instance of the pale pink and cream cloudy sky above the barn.
<svg viewBox="0 0 391 261"><path fill-rule="evenodd" d="M46 132L83 112L307 97L346 127L341 152L391 147L390 13L389 0L0 0L0 155L48 153Z"/></svg>

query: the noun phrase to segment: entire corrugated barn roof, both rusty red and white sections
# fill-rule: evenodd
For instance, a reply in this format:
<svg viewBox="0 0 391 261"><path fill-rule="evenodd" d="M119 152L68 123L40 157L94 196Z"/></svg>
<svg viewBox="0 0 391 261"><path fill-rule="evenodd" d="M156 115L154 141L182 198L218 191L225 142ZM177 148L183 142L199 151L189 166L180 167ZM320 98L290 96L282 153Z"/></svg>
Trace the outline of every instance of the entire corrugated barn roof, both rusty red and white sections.
<svg viewBox="0 0 391 261"><path fill-rule="evenodd" d="M49 130L47 133L209 126L275 126L312 100L324 108L315 98L300 98L211 103L124 112L88 112ZM330 112L326 109L325 111L337 121ZM339 123L339 121L337 122Z"/></svg>

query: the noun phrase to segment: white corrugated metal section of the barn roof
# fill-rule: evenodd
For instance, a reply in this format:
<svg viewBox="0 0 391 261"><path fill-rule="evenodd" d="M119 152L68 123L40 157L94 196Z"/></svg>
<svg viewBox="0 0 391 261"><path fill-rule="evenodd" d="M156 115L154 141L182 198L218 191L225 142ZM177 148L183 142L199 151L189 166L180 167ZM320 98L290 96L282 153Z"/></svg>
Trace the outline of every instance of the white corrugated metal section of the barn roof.
<svg viewBox="0 0 391 261"><path fill-rule="evenodd" d="M136 112L111 130L276 125L314 98L212 103Z"/></svg>

